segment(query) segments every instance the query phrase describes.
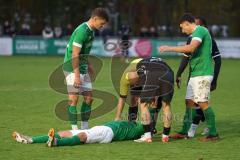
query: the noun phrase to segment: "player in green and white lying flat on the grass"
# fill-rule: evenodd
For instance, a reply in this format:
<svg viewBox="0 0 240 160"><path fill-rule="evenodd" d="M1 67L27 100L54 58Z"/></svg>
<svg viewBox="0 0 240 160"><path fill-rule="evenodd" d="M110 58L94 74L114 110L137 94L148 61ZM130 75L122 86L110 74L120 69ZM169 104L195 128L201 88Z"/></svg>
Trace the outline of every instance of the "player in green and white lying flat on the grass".
<svg viewBox="0 0 240 160"><path fill-rule="evenodd" d="M143 125L140 123L113 121L86 130L66 130L55 133L54 129L50 129L48 135L33 137L14 132L13 138L20 143L47 143L48 147L56 147L133 140L143 133Z"/></svg>

